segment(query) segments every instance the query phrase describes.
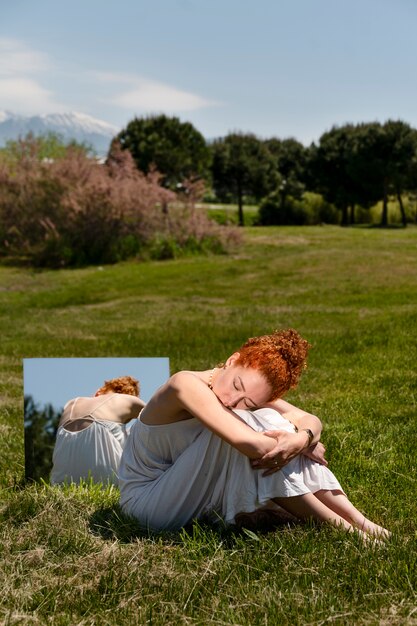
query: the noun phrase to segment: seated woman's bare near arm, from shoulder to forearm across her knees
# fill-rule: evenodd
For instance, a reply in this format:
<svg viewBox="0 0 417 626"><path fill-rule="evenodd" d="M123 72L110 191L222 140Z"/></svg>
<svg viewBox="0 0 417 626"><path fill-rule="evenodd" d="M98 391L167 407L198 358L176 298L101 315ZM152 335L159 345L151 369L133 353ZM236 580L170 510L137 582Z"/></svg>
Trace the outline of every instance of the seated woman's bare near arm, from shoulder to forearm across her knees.
<svg viewBox="0 0 417 626"><path fill-rule="evenodd" d="M196 417L204 426L250 459L275 447L275 441L254 431L217 399L192 372L178 372L146 405L141 420L147 424L176 422Z"/></svg>

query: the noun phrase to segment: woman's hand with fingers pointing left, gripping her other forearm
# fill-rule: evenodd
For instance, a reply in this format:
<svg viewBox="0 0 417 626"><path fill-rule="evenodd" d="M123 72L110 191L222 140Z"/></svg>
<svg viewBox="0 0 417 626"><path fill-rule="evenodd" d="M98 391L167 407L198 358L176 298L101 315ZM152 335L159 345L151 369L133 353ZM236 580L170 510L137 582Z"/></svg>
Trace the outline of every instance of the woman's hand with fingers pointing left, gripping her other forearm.
<svg viewBox="0 0 417 626"><path fill-rule="evenodd" d="M305 446L308 441L308 436L306 439L306 433L304 431L291 433L285 430L268 430L265 431L263 435L271 437L277 442L276 446L270 452L264 454L260 459L251 461L251 465L254 469L266 470L263 476L269 476L277 472L303 450L307 452ZM311 446L311 448L313 447L315 446Z"/></svg>

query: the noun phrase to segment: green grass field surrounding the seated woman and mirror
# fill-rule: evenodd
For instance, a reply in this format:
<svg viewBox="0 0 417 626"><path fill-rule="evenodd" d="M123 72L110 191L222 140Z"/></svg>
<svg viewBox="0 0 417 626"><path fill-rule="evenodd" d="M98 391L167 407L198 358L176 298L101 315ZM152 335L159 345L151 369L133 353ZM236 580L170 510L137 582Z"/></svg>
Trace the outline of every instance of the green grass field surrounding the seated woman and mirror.
<svg viewBox="0 0 417 626"><path fill-rule="evenodd" d="M417 624L417 229L248 228L233 256L0 267L0 623ZM117 490L24 485L23 357L210 368L248 336L313 345L288 399L316 413L383 547L314 525L147 535Z"/></svg>

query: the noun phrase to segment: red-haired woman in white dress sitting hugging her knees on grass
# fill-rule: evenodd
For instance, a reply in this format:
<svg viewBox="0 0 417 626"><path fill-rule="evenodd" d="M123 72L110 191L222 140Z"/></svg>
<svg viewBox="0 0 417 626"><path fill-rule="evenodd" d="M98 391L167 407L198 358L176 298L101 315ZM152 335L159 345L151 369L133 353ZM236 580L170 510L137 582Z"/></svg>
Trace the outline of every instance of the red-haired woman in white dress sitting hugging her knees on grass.
<svg viewBox="0 0 417 626"><path fill-rule="evenodd" d="M385 535L326 468L320 420L282 400L308 348L289 329L249 339L223 367L172 376L132 427L119 470L123 510L145 527L173 530L279 505L299 519ZM300 454L310 458L300 463Z"/></svg>

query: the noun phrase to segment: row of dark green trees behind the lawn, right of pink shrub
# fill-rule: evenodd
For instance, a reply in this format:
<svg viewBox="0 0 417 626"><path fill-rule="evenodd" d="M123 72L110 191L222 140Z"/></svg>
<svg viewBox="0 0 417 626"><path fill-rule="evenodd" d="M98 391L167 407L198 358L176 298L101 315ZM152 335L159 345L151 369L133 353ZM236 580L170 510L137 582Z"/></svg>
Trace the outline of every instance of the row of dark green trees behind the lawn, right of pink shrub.
<svg viewBox="0 0 417 626"><path fill-rule="evenodd" d="M240 132L206 141L189 122L158 115L129 122L109 156L119 147L140 171L158 170L166 188L177 190L185 179L206 181L214 201L237 203L240 225L247 201L260 205L260 224L303 223L303 206L315 194L316 220L348 225L356 209L381 201L386 226L388 200L395 197L406 226L411 218L404 196L417 190L417 131L400 120L335 126L305 147L293 138Z"/></svg>

